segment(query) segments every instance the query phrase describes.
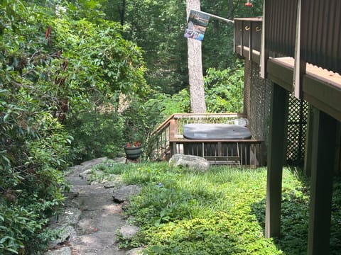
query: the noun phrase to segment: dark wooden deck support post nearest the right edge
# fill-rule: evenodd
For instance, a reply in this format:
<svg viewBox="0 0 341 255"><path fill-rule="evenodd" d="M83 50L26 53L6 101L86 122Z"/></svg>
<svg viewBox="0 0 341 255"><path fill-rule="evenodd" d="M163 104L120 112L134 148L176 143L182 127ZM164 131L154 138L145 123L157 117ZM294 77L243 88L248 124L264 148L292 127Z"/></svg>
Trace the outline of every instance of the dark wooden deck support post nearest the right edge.
<svg viewBox="0 0 341 255"><path fill-rule="evenodd" d="M335 168L337 121L317 111L313 118L313 159L310 183L308 255L329 254L332 175Z"/></svg>

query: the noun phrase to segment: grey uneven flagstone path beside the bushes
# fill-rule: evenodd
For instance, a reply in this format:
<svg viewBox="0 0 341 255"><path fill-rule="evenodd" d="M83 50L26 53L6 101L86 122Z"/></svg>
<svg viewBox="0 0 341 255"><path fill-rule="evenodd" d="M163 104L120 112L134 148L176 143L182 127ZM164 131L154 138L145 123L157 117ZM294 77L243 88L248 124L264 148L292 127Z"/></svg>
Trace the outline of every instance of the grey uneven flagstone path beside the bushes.
<svg viewBox="0 0 341 255"><path fill-rule="evenodd" d="M116 242L117 232L131 236L139 230L130 226L122 216L122 203L129 194L139 192L138 186L124 186L117 181L88 183L90 169L107 158L94 159L73 166L67 179L72 188L67 193L65 210L51 227L63 229L60 239L51 244L45 255L132 255L141 249L120 250ZM125 159L116 159L117 164Z"/></svg>

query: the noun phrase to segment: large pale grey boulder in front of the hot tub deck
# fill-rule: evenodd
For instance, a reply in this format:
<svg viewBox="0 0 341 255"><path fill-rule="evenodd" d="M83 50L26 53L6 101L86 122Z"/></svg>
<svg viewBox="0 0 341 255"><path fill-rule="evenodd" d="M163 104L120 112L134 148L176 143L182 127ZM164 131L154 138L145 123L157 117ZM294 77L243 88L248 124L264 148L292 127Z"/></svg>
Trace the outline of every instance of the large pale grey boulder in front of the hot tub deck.
<svg viewBox="0 0 341 255"><path fill-rule="evenodd" d="M203 157L184 154L174 154L171 159L169 159L169 164L173 166L183 166L190 171L204 172L210 168L210 162Z"/></svg>

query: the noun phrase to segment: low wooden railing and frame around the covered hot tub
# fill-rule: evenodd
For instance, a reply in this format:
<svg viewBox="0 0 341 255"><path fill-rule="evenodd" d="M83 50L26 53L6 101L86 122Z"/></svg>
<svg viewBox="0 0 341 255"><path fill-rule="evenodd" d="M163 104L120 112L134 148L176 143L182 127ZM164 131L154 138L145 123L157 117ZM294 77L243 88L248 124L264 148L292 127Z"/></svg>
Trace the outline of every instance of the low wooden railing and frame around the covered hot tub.
<svg viewBox="0 0 341 255"><path fill-rule="evenodd" d="M212 164L260 166L263 164L262 140L188 140L183 137L185 124L233 124L244 117L241 113L175 113L153 132L149 158L153 161L168 160L173 154L180 153L205 157Z"/></svg>

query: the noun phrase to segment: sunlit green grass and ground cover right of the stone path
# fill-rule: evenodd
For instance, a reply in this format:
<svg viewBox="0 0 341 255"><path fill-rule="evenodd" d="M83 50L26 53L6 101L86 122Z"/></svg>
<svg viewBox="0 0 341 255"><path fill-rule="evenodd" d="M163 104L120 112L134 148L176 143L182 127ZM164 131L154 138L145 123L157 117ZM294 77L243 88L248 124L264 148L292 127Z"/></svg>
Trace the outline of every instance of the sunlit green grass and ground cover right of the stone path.
<svg viewBox="0 0 341 255"><path fill-rule="evenodd" d="M126 183L143 186L126 215L141 231L121 247L146 254L306 254L308 181L283 170L282 236L264 238L266 169L211 167L207 173L167 163L112 165ZM330 254L341 249L341 185L335 181Z"/></svg>

